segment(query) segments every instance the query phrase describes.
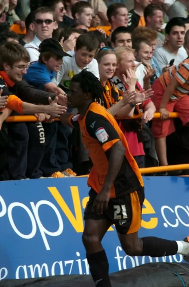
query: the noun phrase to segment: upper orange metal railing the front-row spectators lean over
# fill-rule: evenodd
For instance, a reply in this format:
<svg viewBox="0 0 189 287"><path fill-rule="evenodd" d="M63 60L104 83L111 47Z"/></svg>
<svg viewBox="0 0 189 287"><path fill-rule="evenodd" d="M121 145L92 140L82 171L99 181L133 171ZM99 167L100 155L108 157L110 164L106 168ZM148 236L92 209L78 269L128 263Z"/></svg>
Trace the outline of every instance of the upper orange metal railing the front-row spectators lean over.
<svg viewBox="0 0 189 287"><path fill-rule="evenodd" d="M143 113L133 116L132 119L140 119L142 117ZM154 118L160 118L160 113L155 112L154 113ZM179 118L179 115L177 112L170 112L169 118ZM126 118L126 119L131 119L131 118ZM33 115L16 115L16 116L10 116L9 118L6 119L7 123L10 122L35 122L37 118ZM59 119L55 119L59 120Z"/></svg>

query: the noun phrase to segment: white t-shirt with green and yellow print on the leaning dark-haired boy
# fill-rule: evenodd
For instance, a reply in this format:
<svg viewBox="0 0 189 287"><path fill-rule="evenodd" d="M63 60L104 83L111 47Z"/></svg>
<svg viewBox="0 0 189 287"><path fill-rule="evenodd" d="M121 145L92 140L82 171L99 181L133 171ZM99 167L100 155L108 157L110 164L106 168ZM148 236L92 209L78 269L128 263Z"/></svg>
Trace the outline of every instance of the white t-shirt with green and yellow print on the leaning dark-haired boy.
<svg viewBox="0 0 189 287"><path fill-rule="evenodd" d="M63 57L63 64L61 66L60 71L57 73L56 78L53 79L53 82L56 85L61 85L65 89L69 89L69 84L74 75L79 74L83 69L87 69L87 71L92 72L97 78L100 79L98 63L97 60L92 59L92 61L83 69L80 69L75 60L74 51L68 52L71 57Z"/></svg>

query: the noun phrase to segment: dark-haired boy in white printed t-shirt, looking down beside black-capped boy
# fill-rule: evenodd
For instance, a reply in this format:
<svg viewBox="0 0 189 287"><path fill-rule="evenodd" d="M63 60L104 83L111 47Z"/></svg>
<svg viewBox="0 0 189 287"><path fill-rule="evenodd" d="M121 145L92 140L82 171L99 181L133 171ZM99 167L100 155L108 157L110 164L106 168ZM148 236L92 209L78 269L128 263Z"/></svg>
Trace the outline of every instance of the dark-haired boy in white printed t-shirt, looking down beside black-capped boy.
<svg viewBox="0 0 189 287"><path fill-rule="evenodd" d="M74 51L70 51L71 57L64 57L60 71L53 82L67 92L69 83L75 74L79 74L83 69L92 72L97 78L99 76L98 63L94 56L99 48L98 40L90 34L82 34L77 38Z"/></svg>

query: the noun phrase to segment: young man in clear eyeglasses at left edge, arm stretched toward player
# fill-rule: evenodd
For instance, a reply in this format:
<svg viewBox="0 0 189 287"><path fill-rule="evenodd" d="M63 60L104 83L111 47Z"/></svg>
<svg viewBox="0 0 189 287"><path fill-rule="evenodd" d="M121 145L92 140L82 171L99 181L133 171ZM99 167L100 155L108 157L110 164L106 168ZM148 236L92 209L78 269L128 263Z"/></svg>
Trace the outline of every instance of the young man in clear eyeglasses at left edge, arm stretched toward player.
<svg viewBox="0 0 189 287"><path fill-rule="evenodd" d="M2 88L1 96L8 96L6 107L1 108L0 129L2 123L12 113L12 110L20 114L47 113L53 116L60 116L66 111L66 107L57 104L56 98L48 106L38 106L23 102L11 92L11 88L16 82L22 80L27 73L30 56L20 44L8 42L0 47L0 87Z"/></svg>

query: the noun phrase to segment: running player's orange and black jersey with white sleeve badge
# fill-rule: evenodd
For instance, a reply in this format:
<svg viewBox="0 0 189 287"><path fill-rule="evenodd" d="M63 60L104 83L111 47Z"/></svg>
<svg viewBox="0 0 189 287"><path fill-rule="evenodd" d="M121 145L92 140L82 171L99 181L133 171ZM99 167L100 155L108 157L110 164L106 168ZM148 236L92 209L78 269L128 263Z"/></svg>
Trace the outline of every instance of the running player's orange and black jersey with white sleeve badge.
<svg viewBox="0 0 189 287"><path fill-rule="evenodd" d="M82 142L93 163L88 186L97 193L101 191L107 175L110 148L119 140L122 141L126 151L120 171L111 187L110 197L122 196L144 186L140 170L129 152L122 131L114 117L104 107L91 103L83 118L81 115L71 116L69 123L74 128L80 129Z"/></svg>

